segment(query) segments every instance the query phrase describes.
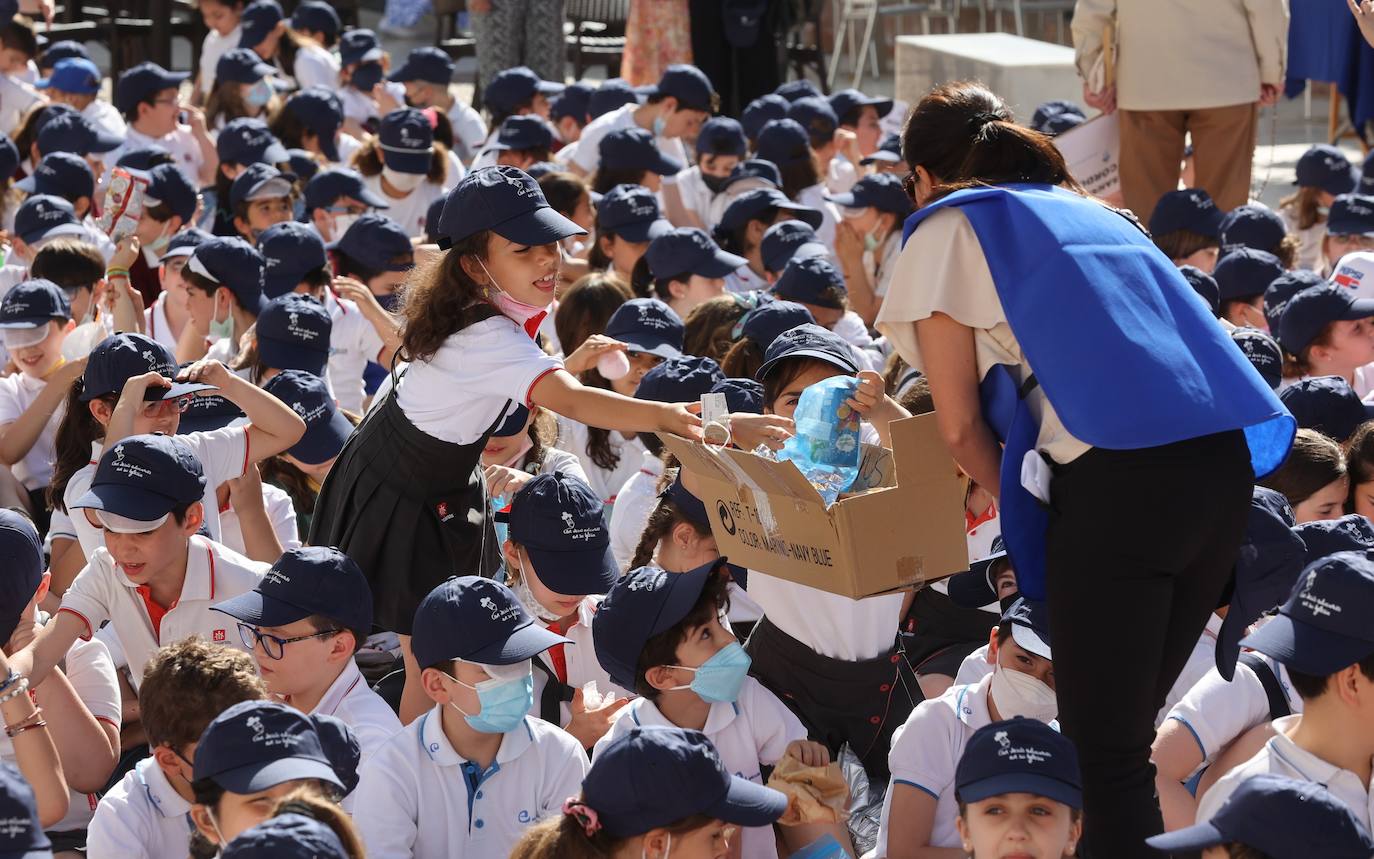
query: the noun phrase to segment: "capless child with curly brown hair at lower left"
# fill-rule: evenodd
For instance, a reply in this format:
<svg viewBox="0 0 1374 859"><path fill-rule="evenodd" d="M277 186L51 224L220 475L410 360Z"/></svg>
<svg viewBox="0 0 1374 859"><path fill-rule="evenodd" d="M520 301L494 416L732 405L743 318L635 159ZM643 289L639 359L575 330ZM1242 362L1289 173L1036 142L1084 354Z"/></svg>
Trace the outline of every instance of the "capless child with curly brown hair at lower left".
<svg viewBox="0 0 1374 859"><path fill-rule="evenodd" d="M153 755L102 797L88 827L87 855L185 859L196 742L224 711L264 698L267 686L242 650L203 638L159 650L139 686L140 723Z"/></svg>

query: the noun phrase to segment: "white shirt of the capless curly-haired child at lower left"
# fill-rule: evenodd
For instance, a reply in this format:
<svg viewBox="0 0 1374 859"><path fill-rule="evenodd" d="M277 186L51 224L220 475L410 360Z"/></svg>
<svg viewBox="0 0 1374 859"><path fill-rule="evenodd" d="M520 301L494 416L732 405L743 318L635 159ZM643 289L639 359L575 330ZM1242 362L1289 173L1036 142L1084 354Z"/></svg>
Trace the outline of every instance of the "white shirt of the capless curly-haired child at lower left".
<svg viewBox="0 0 1374 859"><path fill-rule="evenodd" d="M144 757L95 810L87 859L185 859L195 826L158 761Z"/></svg>

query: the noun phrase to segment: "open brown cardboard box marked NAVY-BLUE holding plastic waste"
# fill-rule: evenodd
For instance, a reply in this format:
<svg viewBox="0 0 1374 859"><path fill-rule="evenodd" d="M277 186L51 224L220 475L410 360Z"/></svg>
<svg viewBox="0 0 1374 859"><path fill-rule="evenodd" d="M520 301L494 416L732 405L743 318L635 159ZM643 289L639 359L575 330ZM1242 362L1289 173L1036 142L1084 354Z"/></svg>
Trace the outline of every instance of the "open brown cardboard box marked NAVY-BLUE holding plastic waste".
<svg viewBox="0 0 1374 859"><path fill-rule="evenodd" d="M660 437L734 564L855 599L969 569L965 480L934 415L892 423L897 485L844 496L829 510L791 462Z"/></svg>

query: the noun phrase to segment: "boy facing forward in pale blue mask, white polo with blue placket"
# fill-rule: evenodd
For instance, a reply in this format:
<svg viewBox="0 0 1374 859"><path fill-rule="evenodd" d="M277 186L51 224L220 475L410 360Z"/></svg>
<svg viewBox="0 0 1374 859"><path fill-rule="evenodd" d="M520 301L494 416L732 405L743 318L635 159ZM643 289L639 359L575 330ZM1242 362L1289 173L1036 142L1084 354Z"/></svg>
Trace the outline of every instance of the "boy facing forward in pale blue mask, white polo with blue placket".
<svg viewBox="0 0 1374 859"><path fill-rule="evenodd" d="M528 715L530 660L567 643L491 579L449 579L425 598L411 650L431 708L363 764L354 822L368 855L506 856L577 794L581 744Z"/></svg>

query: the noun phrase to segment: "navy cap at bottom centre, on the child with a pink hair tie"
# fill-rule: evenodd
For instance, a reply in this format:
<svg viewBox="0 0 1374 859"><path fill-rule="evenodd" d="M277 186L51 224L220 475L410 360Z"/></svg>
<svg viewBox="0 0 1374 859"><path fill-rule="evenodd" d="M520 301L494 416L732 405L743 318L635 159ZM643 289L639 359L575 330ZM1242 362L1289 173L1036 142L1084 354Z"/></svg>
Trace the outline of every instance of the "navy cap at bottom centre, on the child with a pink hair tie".
<svg viewBox="0 0 1374 859"><path fill-rule="evenodd" d="M581 803L617 838L694 815L771 826L787 810L785 793L732 775L705 734L664 726L632 727L606 744L583 779Z"/></svg>

